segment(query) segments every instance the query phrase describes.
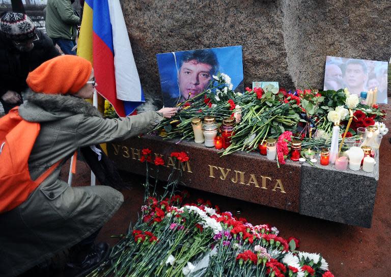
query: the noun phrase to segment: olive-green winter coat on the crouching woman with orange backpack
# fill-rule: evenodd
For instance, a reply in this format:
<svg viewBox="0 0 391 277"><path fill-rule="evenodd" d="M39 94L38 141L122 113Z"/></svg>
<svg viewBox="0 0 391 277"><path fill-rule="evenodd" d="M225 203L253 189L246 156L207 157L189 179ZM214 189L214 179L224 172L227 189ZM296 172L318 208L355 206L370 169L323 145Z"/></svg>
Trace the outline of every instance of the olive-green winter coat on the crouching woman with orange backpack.
<svg viewBox="0 0 391 277"><path fill-rule="evenodd" d="M40 122L29 158L32 179L79 147L126 140L151 130L163 119L153 111L103 119L97 109L73 96L29 93L20 116ZM70 187L59 167L29 198L0 214L0 276L16 276L90 236L118 210L121 192L108 186Z"/></svg>

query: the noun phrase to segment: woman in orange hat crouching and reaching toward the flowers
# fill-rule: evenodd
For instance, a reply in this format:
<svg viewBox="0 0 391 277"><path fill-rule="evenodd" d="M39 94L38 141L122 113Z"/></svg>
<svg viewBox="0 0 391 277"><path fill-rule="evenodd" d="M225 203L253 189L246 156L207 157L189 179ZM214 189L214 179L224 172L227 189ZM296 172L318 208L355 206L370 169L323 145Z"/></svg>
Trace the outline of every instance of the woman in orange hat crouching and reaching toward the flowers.
<svg viewBox="0 0 391 277"><path fill-rule="evenodd" d="M147 132L164 117L174 116L177 108L102 118L84 100L95 90L91 63L77 56L49 60L30 72L26 81L31 92L19 115L40 123L28 161L31 179L61 163L24 202L0 214L0 275L16 276L75 244L79 257L73 257L71 266L83 274L107 256L108 244L93 241L123 196L108 186L70 187L59 177L61 165L80 147Z"/></svg>

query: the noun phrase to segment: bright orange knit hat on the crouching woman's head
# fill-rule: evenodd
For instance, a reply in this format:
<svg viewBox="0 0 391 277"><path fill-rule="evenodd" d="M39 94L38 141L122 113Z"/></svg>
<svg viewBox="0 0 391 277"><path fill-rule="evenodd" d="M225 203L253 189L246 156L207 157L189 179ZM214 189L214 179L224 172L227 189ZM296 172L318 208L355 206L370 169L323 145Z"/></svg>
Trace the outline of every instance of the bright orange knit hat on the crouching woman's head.
<svg viewBox="0 0 391 277"><path fill-rule="evenodd" d="M73 94L87 84L91 72L92 65L86 59L63 55L44 62L30 72L26 82L35 92Z"/></svg>

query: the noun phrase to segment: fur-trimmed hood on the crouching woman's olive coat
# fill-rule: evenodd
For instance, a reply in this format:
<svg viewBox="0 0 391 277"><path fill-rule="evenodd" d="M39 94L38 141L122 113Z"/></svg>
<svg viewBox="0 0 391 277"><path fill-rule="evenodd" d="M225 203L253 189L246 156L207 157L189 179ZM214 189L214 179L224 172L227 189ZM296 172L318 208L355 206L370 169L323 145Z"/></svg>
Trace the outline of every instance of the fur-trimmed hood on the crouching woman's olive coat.
<svg viewBox="0 0 391 277"><path fill-rule="evenodd" d="M27 91L19 107L20 116L30 122L48 122L82 114L102 117L96 107L72 95L43 94Z"/></svg>

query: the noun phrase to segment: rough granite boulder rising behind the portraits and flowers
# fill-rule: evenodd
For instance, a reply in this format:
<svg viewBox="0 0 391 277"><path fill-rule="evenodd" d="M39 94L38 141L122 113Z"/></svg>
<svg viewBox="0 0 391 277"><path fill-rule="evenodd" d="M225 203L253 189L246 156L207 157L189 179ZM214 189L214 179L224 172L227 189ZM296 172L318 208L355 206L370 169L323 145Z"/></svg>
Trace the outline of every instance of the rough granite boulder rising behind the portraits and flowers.
<svg viewBox="0 0 391 277"><path fill-rule="evenodd" d="M323 87L326 56L388 61L390 1L124 0L148 98L159 103L156 53L243 46L244 85Z"/></svg>

